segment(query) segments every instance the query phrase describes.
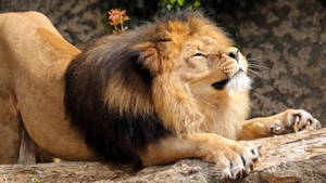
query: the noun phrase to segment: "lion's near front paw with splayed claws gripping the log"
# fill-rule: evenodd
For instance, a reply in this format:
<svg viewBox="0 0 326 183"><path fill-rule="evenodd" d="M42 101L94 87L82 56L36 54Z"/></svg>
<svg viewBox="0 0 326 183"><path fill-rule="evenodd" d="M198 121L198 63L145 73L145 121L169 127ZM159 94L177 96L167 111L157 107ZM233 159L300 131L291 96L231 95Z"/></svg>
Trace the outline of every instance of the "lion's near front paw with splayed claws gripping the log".
<svg viewBox="0 0 326 183"><path fill-rule="evenodd" d="M237 179L252 171L253 164L260 158L260 148L250 143L231 142L218 145L204 159L216 164L222 179Z"/></svg>

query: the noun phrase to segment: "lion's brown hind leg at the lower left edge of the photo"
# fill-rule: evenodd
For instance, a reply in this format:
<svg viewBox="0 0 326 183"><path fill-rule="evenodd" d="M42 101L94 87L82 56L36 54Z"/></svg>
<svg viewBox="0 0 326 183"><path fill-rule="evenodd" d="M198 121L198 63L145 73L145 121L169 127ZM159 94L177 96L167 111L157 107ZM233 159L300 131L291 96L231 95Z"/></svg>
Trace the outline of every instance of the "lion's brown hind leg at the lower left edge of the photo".
<svg viewBox="0 0 326 183"><path fill-rule="evenodd" d="M21 127L13 100L0 95L0 164L16 164L20 157Z"/></svg>

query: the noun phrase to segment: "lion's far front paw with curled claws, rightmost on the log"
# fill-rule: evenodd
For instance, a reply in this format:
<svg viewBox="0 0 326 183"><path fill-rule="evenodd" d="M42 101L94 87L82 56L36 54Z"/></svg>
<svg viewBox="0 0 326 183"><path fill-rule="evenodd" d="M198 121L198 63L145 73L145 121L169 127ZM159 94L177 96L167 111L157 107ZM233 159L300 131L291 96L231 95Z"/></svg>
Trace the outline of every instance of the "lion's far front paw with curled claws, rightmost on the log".
<svg viewBox="0 0 326 183"><path fill-rule="evenodd" d="M292 132L322 128L321 122L303 109L287 109L284 114L285 118L283 123Z"/></svg>

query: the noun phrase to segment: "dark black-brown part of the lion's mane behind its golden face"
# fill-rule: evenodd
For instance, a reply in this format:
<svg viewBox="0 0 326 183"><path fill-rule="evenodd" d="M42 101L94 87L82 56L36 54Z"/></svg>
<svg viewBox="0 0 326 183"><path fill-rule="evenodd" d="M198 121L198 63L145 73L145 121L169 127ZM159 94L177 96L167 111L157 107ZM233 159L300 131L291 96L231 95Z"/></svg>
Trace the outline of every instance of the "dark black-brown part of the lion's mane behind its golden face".
<svg viewBox="0 0 326 183"><path fill-rule="evenodd" d="M172 26L173 22L176 25ZM88 146L104 160L140 165L138 151L175 133L176 129L185 130L186 125L180 126L156 112L168 105L155 106L160 99L153 99L153 93L174 91L156 88L165 84L164 79L155 86L152 83L154 77L174 67L167 61L170 53L166 55L160 42L171 41L171 35L166 35L179 31L178 26L184 24L191 34L210 22L198 13L165 15L155 23L88 44L68 65L64 96L66 115ZM173 28L175 30L171 30ZM171 103L176 101L171 100ZM177 110L178 106L171 107L171 113L177 115L198 114L196 109L186 113L181 108Z"/></svg>

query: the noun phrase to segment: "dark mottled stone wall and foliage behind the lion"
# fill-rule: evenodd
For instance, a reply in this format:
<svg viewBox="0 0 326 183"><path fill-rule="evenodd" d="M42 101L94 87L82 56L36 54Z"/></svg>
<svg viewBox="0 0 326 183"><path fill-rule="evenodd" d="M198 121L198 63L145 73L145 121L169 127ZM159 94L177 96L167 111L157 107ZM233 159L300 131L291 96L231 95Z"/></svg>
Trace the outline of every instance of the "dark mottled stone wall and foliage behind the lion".
<svg viewBox="0 0 326 183"><path fill-rule="evenodd" d="M201 10L255 64L251 117L303 108L326 127L325 0L0 0L0 12L39 11L77 48L112 32L108 11L129 28L168 11Z"/></svg>

